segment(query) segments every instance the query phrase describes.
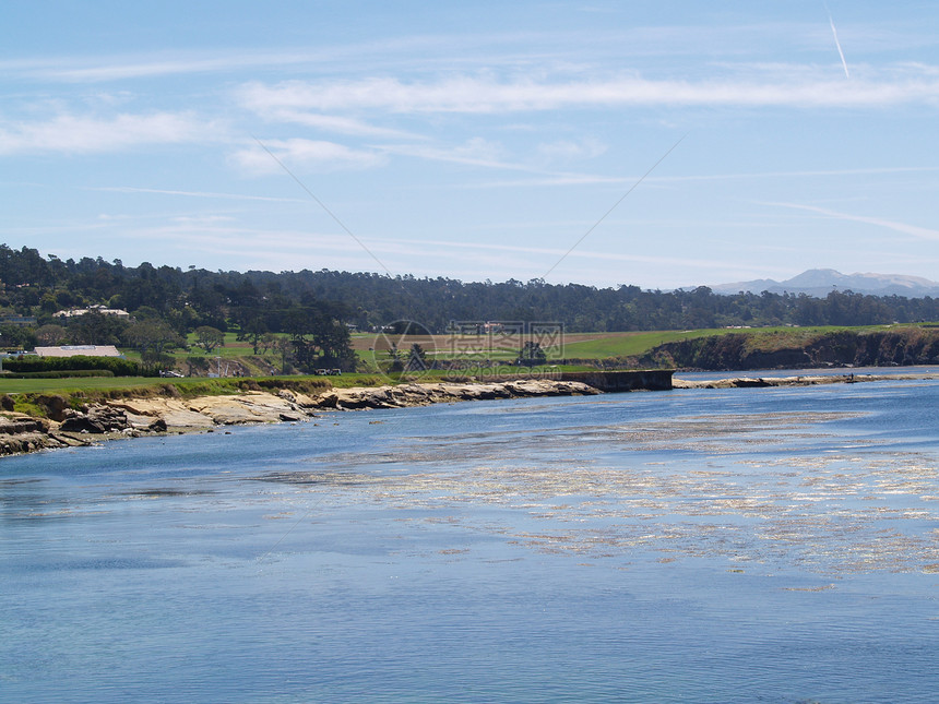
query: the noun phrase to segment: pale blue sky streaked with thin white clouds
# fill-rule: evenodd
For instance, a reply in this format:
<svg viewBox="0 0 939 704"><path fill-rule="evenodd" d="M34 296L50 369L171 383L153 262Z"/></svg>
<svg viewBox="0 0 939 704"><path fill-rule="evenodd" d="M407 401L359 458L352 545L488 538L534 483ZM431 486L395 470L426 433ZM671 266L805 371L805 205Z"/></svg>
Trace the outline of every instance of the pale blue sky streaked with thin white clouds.
<svg viewBox="0 0 939 704"><path fill-rule="evenodd" d="M647 289L939 278L939 3L8 1L0 242Z"/></svg>

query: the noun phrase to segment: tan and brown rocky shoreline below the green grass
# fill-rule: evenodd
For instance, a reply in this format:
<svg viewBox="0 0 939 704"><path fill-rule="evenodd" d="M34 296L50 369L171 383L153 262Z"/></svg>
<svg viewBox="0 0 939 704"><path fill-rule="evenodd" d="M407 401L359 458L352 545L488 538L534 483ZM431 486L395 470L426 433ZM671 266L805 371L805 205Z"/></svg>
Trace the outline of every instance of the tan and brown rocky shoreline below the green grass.
<svg viewBox="0 0 939 704"><path fill-rule="evenodd" d="M219 426L301 421L323 411L598 393L602 392L577 381L525 379L330 389L314 396L287 389L188 399L150 396L90 404L80 410L67 407L63 398L54 396L47 407L48 418L12 411L0 415L0 455L167 432L211 432Z"/></svg>

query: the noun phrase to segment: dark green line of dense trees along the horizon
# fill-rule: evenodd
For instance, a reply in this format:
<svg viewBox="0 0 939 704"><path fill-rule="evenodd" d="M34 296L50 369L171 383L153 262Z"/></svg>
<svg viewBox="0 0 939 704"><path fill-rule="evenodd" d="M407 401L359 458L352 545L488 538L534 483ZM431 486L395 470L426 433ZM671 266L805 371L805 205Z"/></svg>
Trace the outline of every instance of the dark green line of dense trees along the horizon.
<svg viewBox="0 0 939 704"><path fill-rule="evenodd" d="M120 260L44 258L0 244L0 317L35 317L34 329L0 326L4 346L60 325L72 344L166 345L200 327L234 331L255 353L280 337L301 369L353 363L348 331L413 320L432 333L453 321L545 321L568 332L625 332L770 325L870 325L939 320L939 299L832 291L805 294L643 290L579 284L492 283L335 271L225 272L189 266L124 266ZM128 311L134 322L84 315L63 323L60 310L93 305ZM170 337L175 334L177 337ZM34 339L35 342L35 339ZM161 343L154 343L154 349ZM159 351L159 350L157 350Z"/></svg>

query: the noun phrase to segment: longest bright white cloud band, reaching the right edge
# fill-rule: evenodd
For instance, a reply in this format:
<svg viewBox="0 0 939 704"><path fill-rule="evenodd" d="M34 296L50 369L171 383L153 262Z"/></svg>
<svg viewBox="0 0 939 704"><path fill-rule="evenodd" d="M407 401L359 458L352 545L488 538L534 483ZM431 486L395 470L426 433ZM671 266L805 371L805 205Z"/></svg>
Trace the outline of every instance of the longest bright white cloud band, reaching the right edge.
<svg viewBox="0 0 939 704"><path fill-rule="evenodd" d="M497 114L622 106L884 107L939 100L939 80L926 71L902 76L832 80L815 69L774 67L762 76L702 81L625 75L536 81L460 75L436 82L393 77L248 84L243 95L270 110L383 110L392 114ZM808 74L806 74L806 72Z"/></svg>

